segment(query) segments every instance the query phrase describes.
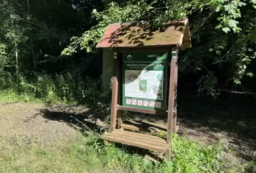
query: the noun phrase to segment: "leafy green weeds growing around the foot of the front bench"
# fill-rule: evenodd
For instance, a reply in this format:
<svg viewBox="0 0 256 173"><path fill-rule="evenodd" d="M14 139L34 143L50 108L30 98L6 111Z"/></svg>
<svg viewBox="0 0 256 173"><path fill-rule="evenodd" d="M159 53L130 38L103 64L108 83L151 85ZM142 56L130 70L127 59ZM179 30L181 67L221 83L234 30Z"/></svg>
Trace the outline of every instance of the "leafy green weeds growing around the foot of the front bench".
<svg viewBox="0 0 256 173"><path fill-rule="evenodd" d="M94 141L94 142L93 142ZM119 149L114 144L102 146L96 143L93 138L89 143L92 144L101 156L107 160L104 162L108 169L130 170L136 172L217 172L221 169L223 147L201 146L185 137L174 135L172 142L172 161L153 164L144 160L141 156L127 154L129 148Z"/></svg>

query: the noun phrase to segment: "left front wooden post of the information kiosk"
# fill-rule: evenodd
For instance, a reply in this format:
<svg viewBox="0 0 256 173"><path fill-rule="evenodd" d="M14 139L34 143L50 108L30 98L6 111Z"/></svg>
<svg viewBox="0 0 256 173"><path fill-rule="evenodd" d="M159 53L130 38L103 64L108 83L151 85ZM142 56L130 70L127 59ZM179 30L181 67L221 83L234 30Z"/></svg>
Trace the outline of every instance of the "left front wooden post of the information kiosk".
<svg viewBox="0 0 256 173"><path fill-rule="evenodd" d="M117 57L117 53L114 53L114 69L113 69L113 88L112 88L112 103L111 103L111 120L110 120L110 132L116 128L116 114L117 114L117 97L118 97L118 72L120 57Z"/></svg>

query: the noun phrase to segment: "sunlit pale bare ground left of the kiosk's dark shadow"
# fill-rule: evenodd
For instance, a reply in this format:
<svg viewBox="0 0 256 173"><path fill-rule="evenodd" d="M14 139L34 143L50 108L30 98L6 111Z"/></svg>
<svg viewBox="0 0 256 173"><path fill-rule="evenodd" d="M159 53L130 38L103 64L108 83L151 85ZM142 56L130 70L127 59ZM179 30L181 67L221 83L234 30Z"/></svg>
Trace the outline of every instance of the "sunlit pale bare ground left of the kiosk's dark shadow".
<svg viewBox="0 0 256 173"><path fill-rule="evenodd" d="M44 109L44 105L34 103L1 104L0 136L7 140L19 137L28 142L36 139L44 145L75 136L75 129L66 123L44 118Z"/></svg>

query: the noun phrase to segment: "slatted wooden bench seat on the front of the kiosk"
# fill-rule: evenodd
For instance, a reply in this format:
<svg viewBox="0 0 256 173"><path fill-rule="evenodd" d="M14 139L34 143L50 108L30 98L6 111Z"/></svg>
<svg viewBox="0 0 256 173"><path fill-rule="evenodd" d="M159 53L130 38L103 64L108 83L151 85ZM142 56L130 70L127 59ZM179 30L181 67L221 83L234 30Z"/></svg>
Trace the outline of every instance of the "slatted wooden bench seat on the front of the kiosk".
<svg viewBox="0 0 256 173"><path fill-rule="evenodd" d="M114 129L111 133L102 135L104 143L119 142L125 145L137 146L140 148L150 149L163 154L168 149L166 140L157 136L145 135L135 132L124 131L124 129Z"/></svg>

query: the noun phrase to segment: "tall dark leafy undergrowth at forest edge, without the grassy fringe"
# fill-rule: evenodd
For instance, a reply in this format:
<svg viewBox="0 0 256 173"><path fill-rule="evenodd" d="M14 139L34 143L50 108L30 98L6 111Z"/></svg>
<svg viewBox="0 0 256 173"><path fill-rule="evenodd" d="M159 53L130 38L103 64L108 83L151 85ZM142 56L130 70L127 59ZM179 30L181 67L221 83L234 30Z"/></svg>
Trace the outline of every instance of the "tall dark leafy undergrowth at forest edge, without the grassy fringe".
<svg viewBox="0 0 256 173"><path fill-rule="evenodd" d="M101 89L100 80L82 79L80 76L56 74L36 75L36 80L27 80L20 76L19 92L33 95L47 103L70 102L77 104L92 104L105 102L109 99L110 92Z"/></svg>

